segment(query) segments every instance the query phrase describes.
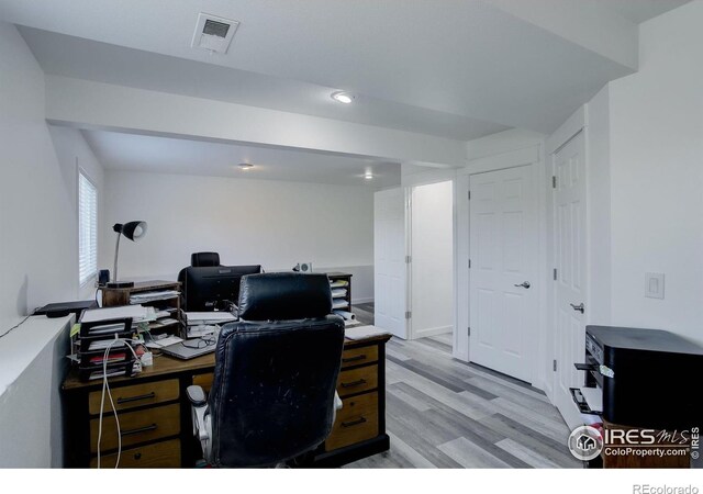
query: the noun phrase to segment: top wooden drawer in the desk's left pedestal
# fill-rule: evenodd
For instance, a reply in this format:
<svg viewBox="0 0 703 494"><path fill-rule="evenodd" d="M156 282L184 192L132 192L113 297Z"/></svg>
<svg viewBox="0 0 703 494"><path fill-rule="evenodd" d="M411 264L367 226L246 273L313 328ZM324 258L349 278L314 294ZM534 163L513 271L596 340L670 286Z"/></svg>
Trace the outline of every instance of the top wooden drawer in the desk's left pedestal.
<svg viewBox="0 0 703 494"><path fill-rule="evenodd" d="M111 388L112 398L114 400L114 406L118 411L178 400L178 390L177 379ZM90 415L100 414L101 397L102 391L93 391L88 395L88 411ZM105 405L102 413L105 415L108 412L112 413L112 407L110 406L110 398L105 396Z"/></svg>

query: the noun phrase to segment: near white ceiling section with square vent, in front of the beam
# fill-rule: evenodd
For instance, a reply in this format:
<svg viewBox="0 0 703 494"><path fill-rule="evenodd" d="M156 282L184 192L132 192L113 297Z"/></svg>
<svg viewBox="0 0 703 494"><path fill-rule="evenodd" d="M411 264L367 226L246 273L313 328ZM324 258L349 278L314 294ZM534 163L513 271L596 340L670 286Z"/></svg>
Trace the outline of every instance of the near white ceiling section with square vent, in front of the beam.
<svg viewBox="0 0 703 494"><path fill-rule="evenodd" d="M190 47L201 11L241 22L226 55ZM81 43L132 48L86 47L65 64L74 41L27 35L47 71L104 81L115 78L114 57L116 66L140 67L120 75L129 86L447 137L504 128L495 124L549 133L605 82L632 72L486 0L0 0L0 16ZM68 55L52 61L63 47ZM237 71L199 76L201 65L137 50ZM359 108L331 105L331 88L357 93Z"/></svg>

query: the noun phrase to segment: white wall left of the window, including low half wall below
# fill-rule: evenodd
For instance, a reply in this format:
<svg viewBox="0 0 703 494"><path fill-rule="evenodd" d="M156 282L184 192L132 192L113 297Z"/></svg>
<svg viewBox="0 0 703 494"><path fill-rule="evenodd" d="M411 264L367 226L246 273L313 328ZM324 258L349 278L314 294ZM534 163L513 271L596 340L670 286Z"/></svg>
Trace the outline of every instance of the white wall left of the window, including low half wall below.
<svg viewBox="0 0 703 494"><path fill-rule="evenodd" d="M16 29L3 22L0 75L0 332L4 333L34 307L79 296L75 157L97 177L99 166L80 134L49 131L44 120L44 74ZM54 145L60 148L59 157ZM12 445L0 448L3 467L62 464L58 389L66 372L67 340L37 349L22 369L9 374L16 359L36 347L40 332L33 319L0 340L4 384L0 445ZM47 330L55 337L56 330Z"/></svg>

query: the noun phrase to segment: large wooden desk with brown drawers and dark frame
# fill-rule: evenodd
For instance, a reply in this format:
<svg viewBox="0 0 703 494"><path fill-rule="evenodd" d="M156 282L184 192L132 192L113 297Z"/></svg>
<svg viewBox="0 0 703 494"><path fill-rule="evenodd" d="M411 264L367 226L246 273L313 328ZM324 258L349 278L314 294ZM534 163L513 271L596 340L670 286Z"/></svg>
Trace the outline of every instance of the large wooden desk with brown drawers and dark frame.
<svg viewBox="0 0 703 494"><path fill-rule="evenodd" d="M386 451L386 341L390 336L346 340L337 391L344 407L332 434L315 452L315 465L337 467ZM135 378L111 378L122 436L120 468L191 468L202 458L192 436L186 389L210 390L214 353L192 360L156 357ZM97 467L102 381L81 382L72 369L63 385L66 405L67 467ZM116 427L105 396L102 417L101 467L114 467Z"/></svg>

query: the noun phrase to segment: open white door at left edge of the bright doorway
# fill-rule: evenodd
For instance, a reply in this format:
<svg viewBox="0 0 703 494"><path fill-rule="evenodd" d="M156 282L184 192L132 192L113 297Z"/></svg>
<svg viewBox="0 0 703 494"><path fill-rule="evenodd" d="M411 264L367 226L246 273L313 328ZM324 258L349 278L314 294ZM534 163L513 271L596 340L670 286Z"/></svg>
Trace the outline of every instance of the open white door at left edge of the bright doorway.
<svg viewBox="0 0 703 494"><path fill-rule="evenodd" d="M375 325L406 338L405 193L373 194Z"/></svg>

